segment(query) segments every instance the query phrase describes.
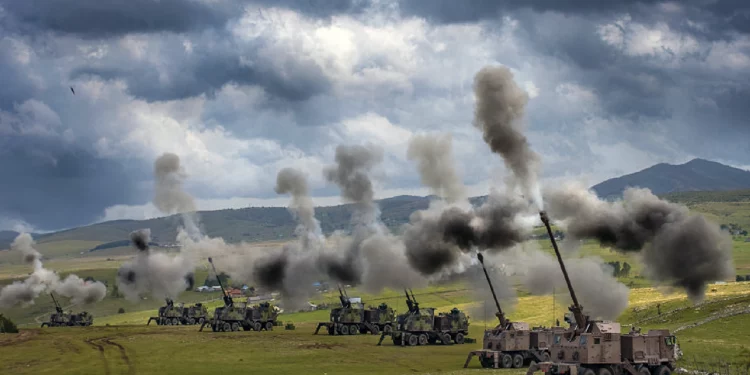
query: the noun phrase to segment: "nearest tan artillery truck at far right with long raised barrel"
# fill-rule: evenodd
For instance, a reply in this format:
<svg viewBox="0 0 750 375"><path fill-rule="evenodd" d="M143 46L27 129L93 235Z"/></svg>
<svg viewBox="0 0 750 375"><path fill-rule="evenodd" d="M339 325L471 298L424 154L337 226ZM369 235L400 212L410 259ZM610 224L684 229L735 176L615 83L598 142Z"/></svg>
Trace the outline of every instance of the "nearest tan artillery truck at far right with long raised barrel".
<svg viewBox="0 0 750 375"><path fill-rule="evenodd" d="M565 264L560 256L549 218L541 212L542 222L555 249L565 282L573 301L570 328L555 332L550 345L550 361L532 363L527 375L543 371L545 375L671 375L675 369L677 340L669 330L649 330L641 334L620 332L620 323L594 320L583 314Z"/></svg>

